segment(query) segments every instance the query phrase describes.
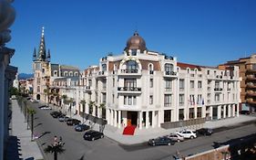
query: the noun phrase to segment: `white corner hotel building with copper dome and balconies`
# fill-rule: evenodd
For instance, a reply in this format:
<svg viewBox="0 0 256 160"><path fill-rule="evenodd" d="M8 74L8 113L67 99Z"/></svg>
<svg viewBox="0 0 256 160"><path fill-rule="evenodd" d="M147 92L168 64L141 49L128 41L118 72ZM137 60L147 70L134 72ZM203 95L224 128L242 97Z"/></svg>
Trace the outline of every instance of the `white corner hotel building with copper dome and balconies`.
<svg viewBox="0 0 256 160"><path fill-rule="evenodd" d="M65 83L65 90L76 92L73 99L77 111L82 112L80 101L84 100L86 113L103 116L116 127L132 124L142 129L181 120L239 115L238 67L180 63L149 51L137 32L128 39L122 54L100 59L99 66L85 69L82 75L79 81L69 83L75 86ZM59 80L57 84L61 84ZM90 101L94 101L91 109Z"/></svg>

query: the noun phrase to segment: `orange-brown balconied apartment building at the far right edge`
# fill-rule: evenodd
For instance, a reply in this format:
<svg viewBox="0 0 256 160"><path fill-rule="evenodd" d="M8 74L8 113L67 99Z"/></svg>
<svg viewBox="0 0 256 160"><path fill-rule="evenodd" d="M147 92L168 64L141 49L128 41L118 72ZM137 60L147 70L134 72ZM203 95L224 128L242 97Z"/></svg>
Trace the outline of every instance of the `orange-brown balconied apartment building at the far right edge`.
<svg viewBox="0 0 256 160"><path fill-rule="evenodd" d="M256 110L256 54L237 60L230 60L224 66L238 66L241 77L240 110ZM221 65L220 65L221 67Z"/></svg>

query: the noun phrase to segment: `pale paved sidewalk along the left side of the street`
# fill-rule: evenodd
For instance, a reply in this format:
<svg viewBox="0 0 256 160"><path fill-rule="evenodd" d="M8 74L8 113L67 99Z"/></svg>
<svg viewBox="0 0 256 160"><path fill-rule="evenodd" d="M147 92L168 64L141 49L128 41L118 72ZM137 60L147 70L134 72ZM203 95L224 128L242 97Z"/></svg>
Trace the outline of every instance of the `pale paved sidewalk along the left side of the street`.
<svg viewBox="0 0 256 160"><path fill-rule="evenodd" d="M7 148L7 160L13 160L14 156L18 154L19 159L24 160L42 160L44 159L36 141L31 141L31 131L26 129L26 122L24 114L16 100L12 100L12 122L11 122L11 142ZM14 143L16 141L16 143ZM15 149L17 151L15 151Z"/></svg>

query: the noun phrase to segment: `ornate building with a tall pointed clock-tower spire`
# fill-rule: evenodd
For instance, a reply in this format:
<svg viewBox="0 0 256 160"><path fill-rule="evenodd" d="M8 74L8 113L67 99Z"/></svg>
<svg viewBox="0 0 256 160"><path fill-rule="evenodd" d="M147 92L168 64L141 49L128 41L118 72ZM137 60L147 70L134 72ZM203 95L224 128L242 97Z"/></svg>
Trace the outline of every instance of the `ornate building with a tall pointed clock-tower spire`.
<svg viewBox="0 0 256 160"><path fill-rule="evenodd" d="M79 69L76 67L51 63L49 49L46 54L44 27L42 28L38 52L36 53L36 48L34 49L33 70L33 97L36 100L46 102L61 102L59 101L60 95L58 94L58 90L56 90L54 87L51 88L50 86L55 79L79 76Z"/></svg>

